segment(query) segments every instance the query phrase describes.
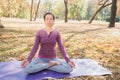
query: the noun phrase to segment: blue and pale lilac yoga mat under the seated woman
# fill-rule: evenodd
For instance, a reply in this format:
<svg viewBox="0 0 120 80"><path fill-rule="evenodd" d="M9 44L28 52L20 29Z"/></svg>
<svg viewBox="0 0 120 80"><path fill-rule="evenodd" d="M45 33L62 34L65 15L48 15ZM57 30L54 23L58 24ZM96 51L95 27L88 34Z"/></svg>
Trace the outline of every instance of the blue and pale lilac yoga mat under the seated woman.
<svg viewBox="0 0 120 80"><path fill-rule="evenodd" d="M42 80L46 78L73 78L83 75L106 75L111 71L99 65L92 59L72 59L76 68L69 74L43 70L34 74L27 74L21 68L21 61L0 62L0 80Z"/></svg>

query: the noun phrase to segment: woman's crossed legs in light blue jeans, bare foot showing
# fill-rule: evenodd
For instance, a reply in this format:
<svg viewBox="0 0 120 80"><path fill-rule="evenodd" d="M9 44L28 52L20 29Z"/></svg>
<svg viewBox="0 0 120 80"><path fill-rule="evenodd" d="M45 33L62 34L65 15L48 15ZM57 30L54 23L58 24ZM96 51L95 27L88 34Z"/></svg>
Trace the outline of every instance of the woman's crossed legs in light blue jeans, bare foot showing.
<svg viewBox="0 0 120 80"><path fill-rule="evenodd" d="M25 67L24 70L26 73L36 73L44 69L49 69L59 73L70 73L72 71L72 67L69 64L67 64L65 61L61 61L56 58L34 59Z"/></svg>

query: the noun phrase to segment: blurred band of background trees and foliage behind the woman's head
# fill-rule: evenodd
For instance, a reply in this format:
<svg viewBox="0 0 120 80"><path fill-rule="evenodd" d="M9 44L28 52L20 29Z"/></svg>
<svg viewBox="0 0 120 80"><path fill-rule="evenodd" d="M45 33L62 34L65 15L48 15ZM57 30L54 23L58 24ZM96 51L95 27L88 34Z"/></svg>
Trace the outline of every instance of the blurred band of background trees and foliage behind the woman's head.
<svg viewBox="0 0 120 80"><path fill-rule="evenodd" d="M120 0L117 0L116 22L120 21ZM57 19L110 21L112 0L0 0L0 17L43 17L47 11Z"/></svg>

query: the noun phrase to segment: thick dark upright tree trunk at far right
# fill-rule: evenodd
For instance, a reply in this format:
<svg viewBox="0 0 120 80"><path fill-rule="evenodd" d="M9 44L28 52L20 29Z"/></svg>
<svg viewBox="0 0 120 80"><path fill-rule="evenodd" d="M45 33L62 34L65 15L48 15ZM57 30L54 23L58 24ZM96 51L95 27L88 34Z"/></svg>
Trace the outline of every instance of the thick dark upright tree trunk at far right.
<svg viewBox="0 0 120 80"><path fill-rule="evenodd" d="M115 17L116 17L116 10L117 10L117 0L112 0L112 6L111 6L111 16L110 16L110 23L109 28L115 27Z"/></svg>

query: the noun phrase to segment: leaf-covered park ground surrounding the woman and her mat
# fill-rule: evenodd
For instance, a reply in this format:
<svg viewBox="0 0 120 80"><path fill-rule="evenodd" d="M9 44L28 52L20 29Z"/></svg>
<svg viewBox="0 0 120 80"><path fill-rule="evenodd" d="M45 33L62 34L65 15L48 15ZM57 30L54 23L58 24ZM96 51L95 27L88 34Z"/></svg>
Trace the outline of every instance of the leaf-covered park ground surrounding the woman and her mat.
<svg viewBox="0 0 120 80"><path fill-rule="evenodd" d="M36 31L44 28L42 19L1 18L5 28L0 29L0 62L24 60L33 44ZM60 80L120 80L120 23L108 28L108 22L56 20L55 28L62 35L63 44L70 58L91 58L112 71L106 76L81 76ZM57 46L56 46L57 47ZM57 48L59 57L60 52Z"/></svg>

